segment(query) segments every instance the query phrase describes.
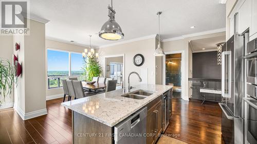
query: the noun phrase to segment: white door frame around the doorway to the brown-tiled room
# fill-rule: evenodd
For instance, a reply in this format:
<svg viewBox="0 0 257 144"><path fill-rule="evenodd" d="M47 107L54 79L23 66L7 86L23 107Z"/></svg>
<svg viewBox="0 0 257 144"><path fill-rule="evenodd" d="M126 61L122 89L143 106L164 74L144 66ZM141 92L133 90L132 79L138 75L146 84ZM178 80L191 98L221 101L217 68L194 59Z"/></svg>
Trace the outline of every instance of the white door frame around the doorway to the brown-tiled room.
<svg viewBox="0 0 257 144"><path fill-rule="evenodd" d="M186 93L186 81L185 81L185 51L170 51L164 52L165 54L181 53L181 98ZM166 56L162 58L162 85L166 85Z"/></svg>

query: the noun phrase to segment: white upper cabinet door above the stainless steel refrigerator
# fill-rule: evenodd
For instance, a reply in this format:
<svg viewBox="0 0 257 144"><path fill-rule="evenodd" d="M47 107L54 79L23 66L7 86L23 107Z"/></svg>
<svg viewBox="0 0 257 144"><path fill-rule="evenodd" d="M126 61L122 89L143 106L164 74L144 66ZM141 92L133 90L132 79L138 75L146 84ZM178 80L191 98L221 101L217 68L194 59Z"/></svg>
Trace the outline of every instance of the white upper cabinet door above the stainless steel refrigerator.
<svg viewBox="0 0 257 144"><path fill-rule="evenodd" d="M257 0L245 0L238 10L238 33L243 33L246 29L251 28L253 1L257 2Z"/></svg>

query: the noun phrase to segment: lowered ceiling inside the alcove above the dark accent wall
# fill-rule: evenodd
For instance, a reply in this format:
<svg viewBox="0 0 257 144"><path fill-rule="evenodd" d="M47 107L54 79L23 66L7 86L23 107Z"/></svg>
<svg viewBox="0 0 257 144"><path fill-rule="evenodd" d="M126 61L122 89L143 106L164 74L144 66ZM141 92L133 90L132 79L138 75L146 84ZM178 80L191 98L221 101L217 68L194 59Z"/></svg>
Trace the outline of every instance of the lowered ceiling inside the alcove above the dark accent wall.
<svg viewBox="0 0 257 144"><path fill-rule="evenodd" d="M218 43L226 42L226 35L191 40L193 52L213 51L217 49ZM203 50L204 49L204 50Z"/></svg>

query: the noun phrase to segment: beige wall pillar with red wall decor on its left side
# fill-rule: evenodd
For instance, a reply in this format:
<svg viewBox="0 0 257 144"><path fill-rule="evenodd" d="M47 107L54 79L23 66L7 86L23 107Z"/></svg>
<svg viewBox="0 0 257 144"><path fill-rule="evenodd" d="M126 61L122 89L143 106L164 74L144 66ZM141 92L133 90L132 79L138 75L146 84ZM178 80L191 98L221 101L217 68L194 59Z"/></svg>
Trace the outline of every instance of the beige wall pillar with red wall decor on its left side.
<svg viewBox="0 0 257 144"><path fill-rule="evenodd" d="M22 65L22 75L14 89L14 109L23 119L47 113L45 91L45 24L30 20L30 35L13 36L21 44L14 51Z"/></svg>

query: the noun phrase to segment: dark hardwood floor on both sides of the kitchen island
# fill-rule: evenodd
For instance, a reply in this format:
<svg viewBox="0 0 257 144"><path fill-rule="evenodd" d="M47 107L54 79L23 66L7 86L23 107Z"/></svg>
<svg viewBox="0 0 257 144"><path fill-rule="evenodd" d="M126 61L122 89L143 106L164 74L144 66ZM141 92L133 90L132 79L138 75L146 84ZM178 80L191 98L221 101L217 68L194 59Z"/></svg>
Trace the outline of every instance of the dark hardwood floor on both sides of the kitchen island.
<svg viewBox="0 0 257 144"><path fill-rule="evenodd" d="M71 111L62 98L46 102L47 115L23 121L13 110L0 111L0 143L71 143ZM173 99L173 114L165 134L188 143L224 143L218 104Z"/></svg>

